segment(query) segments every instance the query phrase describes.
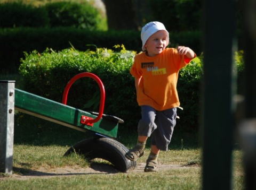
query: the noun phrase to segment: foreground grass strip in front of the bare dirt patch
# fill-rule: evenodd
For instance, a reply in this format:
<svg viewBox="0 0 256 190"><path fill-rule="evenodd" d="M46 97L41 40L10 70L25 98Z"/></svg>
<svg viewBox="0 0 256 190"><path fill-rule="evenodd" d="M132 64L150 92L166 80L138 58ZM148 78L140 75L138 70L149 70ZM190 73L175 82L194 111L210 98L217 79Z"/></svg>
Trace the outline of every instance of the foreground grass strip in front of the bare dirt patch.
<svg viewBox="0 0 256 190"><path fill-rule="evenodd" d="M189 175L188 175L189 174ZM15 180L5 189L199 189L199 170L156 174L84 175L68 178ZM157 177L156 177L157 176ZM188 183L189 182L189 183ZM22 185L22 186L21 186Z"/></svg>

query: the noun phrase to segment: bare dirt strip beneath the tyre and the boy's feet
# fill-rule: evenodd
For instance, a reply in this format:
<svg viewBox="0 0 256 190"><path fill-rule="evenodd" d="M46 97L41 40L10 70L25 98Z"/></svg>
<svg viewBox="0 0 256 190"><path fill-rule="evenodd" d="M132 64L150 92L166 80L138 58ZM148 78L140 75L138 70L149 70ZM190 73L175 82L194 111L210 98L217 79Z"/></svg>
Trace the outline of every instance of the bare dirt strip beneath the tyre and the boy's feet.
<svg viewBox="0 0 256 190"><path fill-rule="evenodd" d="M139 163L137 167L128 171L127 173L139 173L144 172L144 168L146 163ZM171 170L177 168L187 168L187 166L178 166L178 165L159 165L159 171ZM50 178L50 177L69 177L74 175L91 175L91 174L117 174L118 170L116 170L111 165L106 165L103 163L93 163L91 167L87 168L75 168L75 167L62 167L62 168L54 168L54 169L45 169L39 168L37 170L30 170L26 174L19 175L13 174L9 176L0 176L0 180L7 179L20 179L26 180L31 178Z"/></svg>

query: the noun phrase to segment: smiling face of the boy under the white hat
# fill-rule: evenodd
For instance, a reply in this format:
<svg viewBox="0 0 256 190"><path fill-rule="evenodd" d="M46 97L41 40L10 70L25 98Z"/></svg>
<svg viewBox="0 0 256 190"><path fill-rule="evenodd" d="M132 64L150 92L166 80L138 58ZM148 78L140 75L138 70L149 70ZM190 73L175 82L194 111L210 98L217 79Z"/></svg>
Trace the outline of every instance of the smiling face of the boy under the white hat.
<svg viewBox="0 0 256 190"><path fill-rule="evenodd" d="M168 42L166 31L159 30L148 38L144 47L147 49L148 56L153 57L161 54Z"/></svg>

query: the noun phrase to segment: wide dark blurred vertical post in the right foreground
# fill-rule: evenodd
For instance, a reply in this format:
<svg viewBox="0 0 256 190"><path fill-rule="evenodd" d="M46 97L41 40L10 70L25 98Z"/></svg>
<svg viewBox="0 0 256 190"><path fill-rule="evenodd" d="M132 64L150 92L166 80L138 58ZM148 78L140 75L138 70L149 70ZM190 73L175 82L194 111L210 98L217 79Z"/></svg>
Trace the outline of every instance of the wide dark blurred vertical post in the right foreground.
<svg viewBox="0 0 256 190"><path fill-rule="evenodd" d="M203 184L231 189L235 1L204 1Z"/></svg>

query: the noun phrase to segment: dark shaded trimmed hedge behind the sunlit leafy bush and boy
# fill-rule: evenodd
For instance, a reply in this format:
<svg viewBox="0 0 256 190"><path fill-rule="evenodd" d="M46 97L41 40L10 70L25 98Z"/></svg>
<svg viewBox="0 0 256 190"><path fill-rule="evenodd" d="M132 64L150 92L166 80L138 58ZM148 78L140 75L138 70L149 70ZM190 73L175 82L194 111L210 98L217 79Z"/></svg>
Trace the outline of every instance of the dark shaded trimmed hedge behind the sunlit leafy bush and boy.
<svg viewBox="0 0 256 190"><path fill-rule="evenodd" d="M188 46L197 54L201 54L201 32L170 32L171 45L178 44ZM124 44L126 49L141 51L141 39L139 31L90 31L85 29L60 28L15 28L0 30L0 60L3 65L0 73L18 73L20 58L24 58L23 52L37 49L39 52L49 47L54 50L62 50L70 47L70 43L77 49L85 51L98 48L113 49L116 44ZM70 43L69 43L70 42Z"/></svg>

